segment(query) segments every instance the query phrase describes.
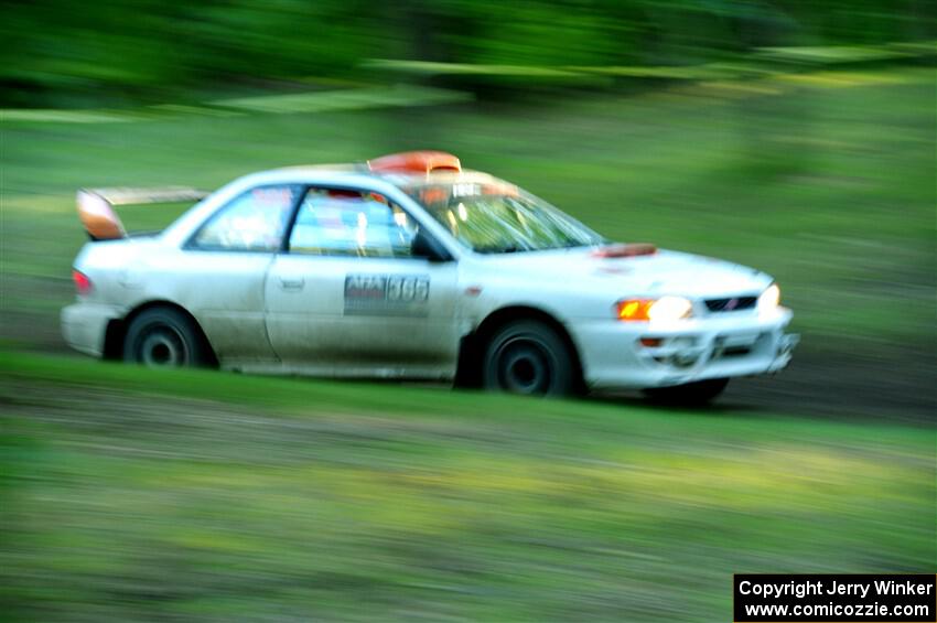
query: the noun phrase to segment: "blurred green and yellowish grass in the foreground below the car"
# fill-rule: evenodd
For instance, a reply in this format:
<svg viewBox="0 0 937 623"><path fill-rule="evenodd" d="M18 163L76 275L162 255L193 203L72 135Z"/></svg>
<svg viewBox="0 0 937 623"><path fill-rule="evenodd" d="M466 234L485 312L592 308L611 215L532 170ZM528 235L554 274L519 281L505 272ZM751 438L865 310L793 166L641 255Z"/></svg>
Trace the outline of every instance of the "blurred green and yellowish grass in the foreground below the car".
<svg viewBox="0 0 937 623"><path fill-rule="evenodd" d="M933 567L933 429L0 355L9 612L730 616L731 573Z"/></svg>

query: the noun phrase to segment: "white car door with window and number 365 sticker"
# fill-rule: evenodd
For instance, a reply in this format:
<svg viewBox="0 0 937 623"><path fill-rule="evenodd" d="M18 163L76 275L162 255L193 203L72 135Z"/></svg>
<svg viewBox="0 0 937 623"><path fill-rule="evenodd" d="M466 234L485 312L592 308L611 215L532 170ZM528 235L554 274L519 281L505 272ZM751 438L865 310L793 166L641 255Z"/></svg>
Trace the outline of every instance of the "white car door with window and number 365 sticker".
<svg viewBox="0 0 937 623"><path fill-rule="evenodd" d="M309 189L266 287L267 332L312 374L451 376L456 264L413 257L417 223L367 192Z"/></svg>

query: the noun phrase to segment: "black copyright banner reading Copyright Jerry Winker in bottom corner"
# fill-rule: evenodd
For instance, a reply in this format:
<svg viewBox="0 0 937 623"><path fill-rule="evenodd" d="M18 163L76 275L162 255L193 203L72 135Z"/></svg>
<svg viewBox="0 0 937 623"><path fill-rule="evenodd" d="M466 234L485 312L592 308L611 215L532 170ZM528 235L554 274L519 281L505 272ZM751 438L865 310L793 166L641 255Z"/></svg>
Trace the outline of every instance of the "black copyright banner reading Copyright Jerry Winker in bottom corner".
<svg viewBox="0 0 937 623"><path fill-rule="evenodd" d="M937 576L735 574L733 621L937 622Z"/></svg>

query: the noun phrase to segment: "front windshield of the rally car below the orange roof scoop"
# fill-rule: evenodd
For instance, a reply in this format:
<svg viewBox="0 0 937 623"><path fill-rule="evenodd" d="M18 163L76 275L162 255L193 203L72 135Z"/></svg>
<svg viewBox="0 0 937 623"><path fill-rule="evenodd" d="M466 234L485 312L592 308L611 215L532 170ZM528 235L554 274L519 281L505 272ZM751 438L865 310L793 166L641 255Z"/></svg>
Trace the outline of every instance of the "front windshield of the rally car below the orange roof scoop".
<svg viewBox="0 0 937 623"><path fill-rule="evenodd" d="M462 245L482 254L594 246L606 241L551 205L506 183L410 189Z"/></svg>

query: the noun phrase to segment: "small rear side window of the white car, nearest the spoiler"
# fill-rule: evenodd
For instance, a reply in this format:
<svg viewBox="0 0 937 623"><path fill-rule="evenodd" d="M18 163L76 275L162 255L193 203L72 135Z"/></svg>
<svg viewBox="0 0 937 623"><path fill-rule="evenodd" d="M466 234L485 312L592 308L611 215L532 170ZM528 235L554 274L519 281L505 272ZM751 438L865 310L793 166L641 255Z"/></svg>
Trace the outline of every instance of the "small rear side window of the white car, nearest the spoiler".
<svg viewBox="0 0 937 623"><path fill-rule="evenodd" d="M299 187L251 189L216 212L195 235L200 249L276 251Z"/></svg>

